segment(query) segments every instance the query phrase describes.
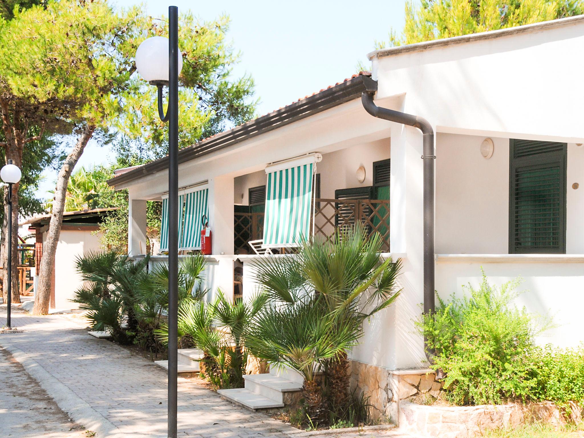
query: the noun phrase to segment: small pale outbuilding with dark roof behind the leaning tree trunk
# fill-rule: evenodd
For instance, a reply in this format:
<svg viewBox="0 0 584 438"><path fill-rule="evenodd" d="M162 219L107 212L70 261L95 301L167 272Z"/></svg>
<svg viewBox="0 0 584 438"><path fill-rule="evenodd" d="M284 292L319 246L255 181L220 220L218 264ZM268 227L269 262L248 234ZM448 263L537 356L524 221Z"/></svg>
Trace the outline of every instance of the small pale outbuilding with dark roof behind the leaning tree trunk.
<svg viewBox="0 0 584 438"><path fill-rule="evenodd" d="M51 277L49 305L51 309L78 308L78 304L72 303L70 300L75 291L84 284L84 281L75 270L75 259L89 252L100 250L100 234L97 232L99 224L109 211L116 209L117 207L95 208L93 210L67 211L63 214L61 234L55 252L55 266ZM37 276L50 221L51 215L45 214L30 218L21 224L29 225L29 230L34 230L36 234L34 249ZM35 285L37 280L34 281Z"/></svg>

